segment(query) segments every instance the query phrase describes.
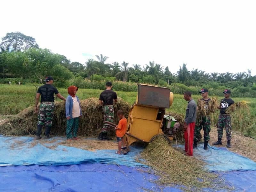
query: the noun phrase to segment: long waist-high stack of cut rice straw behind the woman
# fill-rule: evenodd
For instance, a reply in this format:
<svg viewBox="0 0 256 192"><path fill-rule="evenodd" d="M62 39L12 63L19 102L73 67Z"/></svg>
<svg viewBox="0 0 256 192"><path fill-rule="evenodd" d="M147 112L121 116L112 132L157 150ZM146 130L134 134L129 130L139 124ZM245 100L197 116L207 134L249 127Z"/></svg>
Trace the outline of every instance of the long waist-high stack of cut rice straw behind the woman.
<svg viewBox="0 0 256 192"><path fill-rule="evenodd" d="M79 136L94 136L97 135L103 124L103 108L99 105L99 99L89 98L81 101L81 109L83 116L79 119ZM116 111L122 109L124 116L128 117L130 105L118 98L114 102L114 123L118 123ZM5 135L35 135L36 134L37 114L34 113L34 108L29 107L21 111L19 114L9 119L4 124L0 125L0 133ZM56 102L54 108L54 120L52 124L51 134L65 135L66 133L66 116L65 116L65 102ZM43 129L44 131L44 129ZM110 135L114 134L111 129Z"/></svg>

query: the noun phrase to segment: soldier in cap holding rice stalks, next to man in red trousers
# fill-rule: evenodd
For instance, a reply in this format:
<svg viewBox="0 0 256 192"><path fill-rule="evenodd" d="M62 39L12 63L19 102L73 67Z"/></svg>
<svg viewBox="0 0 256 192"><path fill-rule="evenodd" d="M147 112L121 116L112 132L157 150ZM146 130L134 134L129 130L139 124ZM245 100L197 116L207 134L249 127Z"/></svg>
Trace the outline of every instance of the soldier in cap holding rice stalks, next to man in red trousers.
<svg viewBox="0 0 256 192"><path fill-rule="evenodd" d="M208 89L201 89L201 91L199 92L202 94L202 99L205 103L204 107L207 109L208 108L208 103L211 100L210 98L208 98ZM196 122L196 126L195 126L195 132L194 132L194 143L193 143L193 148L197 148L197 142L198 138L199 138L199 134L201 132L201 129L203 128L204 130L204 149L208 149L208 141L210 140L210 131L211 131L211 118L210 116L205 116L202 117L200 122Z"/></svg>

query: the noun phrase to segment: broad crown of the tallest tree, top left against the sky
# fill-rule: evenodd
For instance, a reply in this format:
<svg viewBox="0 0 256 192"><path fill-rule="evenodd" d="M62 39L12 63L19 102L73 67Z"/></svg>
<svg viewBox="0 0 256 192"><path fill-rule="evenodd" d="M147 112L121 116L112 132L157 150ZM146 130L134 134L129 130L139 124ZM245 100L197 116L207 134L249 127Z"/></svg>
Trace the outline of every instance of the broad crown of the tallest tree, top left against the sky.
<svg viewBox="0 0 256 192"><path fill-rule="evenodd" d="M26 51L31 47L38 48L35 38L20 32L7 33L2 40L2 46L10 46L10 49L15 52Z"/></svg>

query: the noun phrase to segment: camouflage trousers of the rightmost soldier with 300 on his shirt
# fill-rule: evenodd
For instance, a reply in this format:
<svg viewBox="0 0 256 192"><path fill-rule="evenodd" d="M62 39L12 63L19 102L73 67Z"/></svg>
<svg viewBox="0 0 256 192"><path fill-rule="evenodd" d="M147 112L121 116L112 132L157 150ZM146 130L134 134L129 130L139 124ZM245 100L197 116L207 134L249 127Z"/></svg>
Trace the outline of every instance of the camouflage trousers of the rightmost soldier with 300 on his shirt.
<svg viewBox="0 0 256 192"><path fill-rule="evenodd" d="M226 129L227 140L231 140L231 117L227 114L220 114L217 126L218 139L222 138L224 127Z"/></svg>

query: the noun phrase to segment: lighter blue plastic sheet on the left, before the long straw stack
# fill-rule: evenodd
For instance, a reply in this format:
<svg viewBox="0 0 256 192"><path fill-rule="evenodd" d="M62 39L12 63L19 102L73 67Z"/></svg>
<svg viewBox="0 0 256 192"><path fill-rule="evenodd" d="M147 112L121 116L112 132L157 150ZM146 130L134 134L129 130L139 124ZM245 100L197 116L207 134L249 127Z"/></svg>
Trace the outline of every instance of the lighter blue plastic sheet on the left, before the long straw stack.
<svg viewBox="0 0 256 192"><path fill-rule="evenodd" d="M57 140L56 140L57 138ZM54 140L48 140L43 146L38 143L34 146L34 137L5 137L0 135L0 164L12 165L67 165L81 163L105 163L127 166L145 166L138 163L135 158L142 148L131 147L131 152L127 155L115 154L116 150L96 150L88 151L74 147L58 145L65 140L61 137L55 137ZM52 142L54 141L54 142ZM79 142L76 141L76 142ZM19 145L17 146L17 143ZM47 148L54 146L56 148ZM117 147L117 144L116 144Z"/></svg>

